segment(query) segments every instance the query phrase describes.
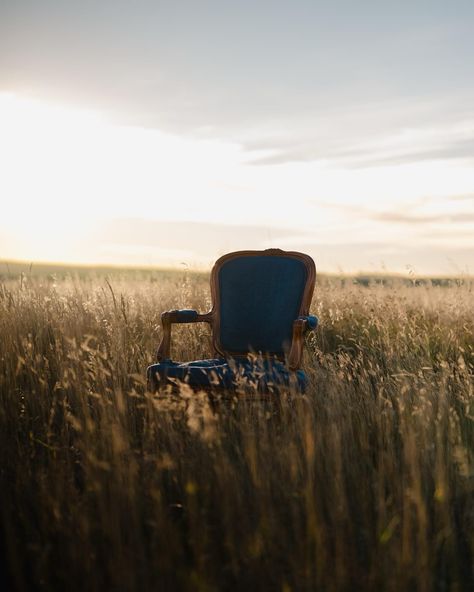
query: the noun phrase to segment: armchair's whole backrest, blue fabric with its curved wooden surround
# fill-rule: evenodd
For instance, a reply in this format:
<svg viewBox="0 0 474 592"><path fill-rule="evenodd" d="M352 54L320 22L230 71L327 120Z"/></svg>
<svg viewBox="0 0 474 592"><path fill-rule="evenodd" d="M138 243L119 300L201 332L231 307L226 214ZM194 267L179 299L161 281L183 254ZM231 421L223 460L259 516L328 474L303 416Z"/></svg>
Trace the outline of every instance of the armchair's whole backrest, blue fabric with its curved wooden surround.
<svg viewBox="0 0 474 592"><path fill-rule="evenodd" d="M238 251L218 259L211 274L215 349L283 358L293 321L309 312L315 280L314 261L303 253Z"/></svg>

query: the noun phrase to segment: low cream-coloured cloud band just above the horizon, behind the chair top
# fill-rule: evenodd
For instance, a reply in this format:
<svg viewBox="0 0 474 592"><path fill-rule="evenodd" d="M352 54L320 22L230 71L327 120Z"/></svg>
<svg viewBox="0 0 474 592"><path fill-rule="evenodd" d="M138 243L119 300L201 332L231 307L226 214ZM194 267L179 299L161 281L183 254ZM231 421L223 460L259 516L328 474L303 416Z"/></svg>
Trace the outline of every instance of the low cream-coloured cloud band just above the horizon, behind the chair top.
<svg viewBox="0 0 474 592"><path fill-rule="evenodd" d="M363 237L357 242L341 236L337 243L328 243L314 232L294 229L270 231L263 226L120 219L97 228L90 242L95 251L107 256L105 262L113 262L115 254L123 261L123 253L128 251L127 260L131 263L166 261L209 267L218 256L230 251L276 247L308 253L315 259L318 269L325 271L386 269L403 272L411 266L419 273L474 272L474 246L444 241L436 244L437 237L435 233L428 242L408 243L370 242Z"/></svg>

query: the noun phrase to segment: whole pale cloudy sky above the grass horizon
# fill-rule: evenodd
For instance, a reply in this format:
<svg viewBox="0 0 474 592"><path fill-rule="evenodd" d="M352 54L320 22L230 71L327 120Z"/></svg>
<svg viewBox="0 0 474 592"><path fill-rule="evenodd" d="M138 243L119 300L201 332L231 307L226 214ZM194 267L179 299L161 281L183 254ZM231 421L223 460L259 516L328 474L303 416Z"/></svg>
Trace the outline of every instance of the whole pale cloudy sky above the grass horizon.
<svg viewBox="0 0 474 592"><path fill-rule="evenodd" d="M474 3L0 0L0 259L474 273Z"/></svg>

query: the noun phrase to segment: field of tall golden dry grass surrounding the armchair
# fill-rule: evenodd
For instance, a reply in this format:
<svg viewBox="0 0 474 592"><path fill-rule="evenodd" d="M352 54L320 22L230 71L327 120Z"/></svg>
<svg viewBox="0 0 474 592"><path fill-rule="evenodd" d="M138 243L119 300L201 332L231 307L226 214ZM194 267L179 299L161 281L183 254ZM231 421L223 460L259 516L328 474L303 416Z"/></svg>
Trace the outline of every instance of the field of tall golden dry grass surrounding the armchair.
<svg viewBox="0 0 474 592"><path fill-rule="evenodd" d="M9 589L473 589L472 279L318 278L309 392L251 402L146 391L206 274L3 269Z"/></svg>

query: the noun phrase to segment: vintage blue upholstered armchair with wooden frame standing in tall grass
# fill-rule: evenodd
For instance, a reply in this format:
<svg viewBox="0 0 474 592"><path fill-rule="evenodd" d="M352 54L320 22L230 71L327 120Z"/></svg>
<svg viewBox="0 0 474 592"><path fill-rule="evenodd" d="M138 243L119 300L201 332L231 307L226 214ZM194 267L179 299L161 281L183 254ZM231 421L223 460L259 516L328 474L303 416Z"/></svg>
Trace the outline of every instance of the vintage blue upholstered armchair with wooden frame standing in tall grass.
<svg viewBox="0 0 474 592"><path fill-rule="evenodd" d="M268 249L224 255L211 273L210 312L162 313L158 363L147 371L150 388L184 382L196 390L304 391L304 336L318 324L308 314L315 280L314 261L302 253ZM216 357L170 360L171 325L198 322L211 325Z"/></svg>

